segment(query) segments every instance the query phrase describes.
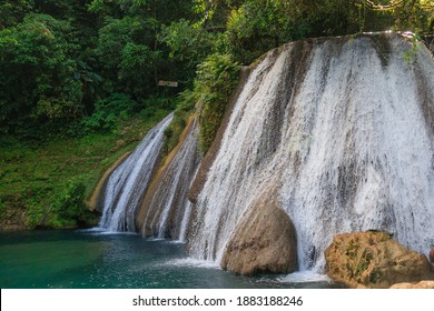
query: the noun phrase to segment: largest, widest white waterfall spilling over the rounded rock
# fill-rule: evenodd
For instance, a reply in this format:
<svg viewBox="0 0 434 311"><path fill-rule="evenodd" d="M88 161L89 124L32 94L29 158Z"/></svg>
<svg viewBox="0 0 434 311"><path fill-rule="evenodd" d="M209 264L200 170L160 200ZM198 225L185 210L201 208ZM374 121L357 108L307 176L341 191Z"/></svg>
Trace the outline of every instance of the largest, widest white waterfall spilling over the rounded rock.
<svg viewBox="0 0 434 311"><path fill-rule="evenodd" d="M300 270L322 272L339 232L384 230L410 249L433 248L434 60L412 50L391 33L269 52L197 199L191 254L219 263L264 191L294 222Z"/></svg>

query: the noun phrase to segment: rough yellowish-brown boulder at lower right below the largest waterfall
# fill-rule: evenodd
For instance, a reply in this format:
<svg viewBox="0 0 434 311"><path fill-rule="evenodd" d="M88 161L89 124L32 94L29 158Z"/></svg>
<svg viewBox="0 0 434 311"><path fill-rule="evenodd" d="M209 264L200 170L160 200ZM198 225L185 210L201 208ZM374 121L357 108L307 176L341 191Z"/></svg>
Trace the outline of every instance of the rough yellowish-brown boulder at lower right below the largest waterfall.
<svg viewBox="0 0 434 311"><path fill-rule="evenodd" d="M326 273L349 287L389 288L432 280L424 254L411 251L386 232L337 234L325 250Z"/></svg>

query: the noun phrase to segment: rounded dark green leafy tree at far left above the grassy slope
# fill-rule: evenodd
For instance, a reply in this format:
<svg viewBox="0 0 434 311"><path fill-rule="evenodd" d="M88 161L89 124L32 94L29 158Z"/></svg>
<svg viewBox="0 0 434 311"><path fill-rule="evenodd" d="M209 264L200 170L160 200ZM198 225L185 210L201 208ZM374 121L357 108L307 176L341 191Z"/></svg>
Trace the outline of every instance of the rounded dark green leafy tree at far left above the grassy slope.
<svg viewBox="0 0 434 311"><path fill-rule="evenodd" d="M0 129L75 119L82 113L82 83L73 60L79 46L68 21L28 14L0 31Z"/></svg>

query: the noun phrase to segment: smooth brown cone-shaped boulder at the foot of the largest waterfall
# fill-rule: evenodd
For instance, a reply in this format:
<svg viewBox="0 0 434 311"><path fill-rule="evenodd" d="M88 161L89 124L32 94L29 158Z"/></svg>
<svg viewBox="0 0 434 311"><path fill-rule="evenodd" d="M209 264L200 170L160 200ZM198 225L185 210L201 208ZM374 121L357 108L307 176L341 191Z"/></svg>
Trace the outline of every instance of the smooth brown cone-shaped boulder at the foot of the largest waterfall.
<svg viewBox="0 0 434 311"><path fill-rule="evenodd" d="M290 273L297 269L294 225L276 201L260 200L243 218L221 267L234 273Z"/></svg>

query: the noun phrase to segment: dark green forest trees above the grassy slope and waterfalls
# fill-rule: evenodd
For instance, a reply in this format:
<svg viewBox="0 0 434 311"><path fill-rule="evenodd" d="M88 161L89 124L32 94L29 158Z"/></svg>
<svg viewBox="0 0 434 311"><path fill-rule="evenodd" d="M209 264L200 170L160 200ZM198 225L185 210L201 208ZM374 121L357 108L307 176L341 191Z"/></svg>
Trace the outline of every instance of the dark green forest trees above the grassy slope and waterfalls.
<svg viewBox="0 0 434 311"><path fill-rule="evenodd" d="M174 108L213 54L249 63L307 37L424 34L433 14L432 0L2 0L0 131L105 129L119 113Z"/></svg>

